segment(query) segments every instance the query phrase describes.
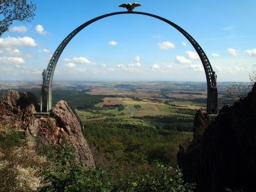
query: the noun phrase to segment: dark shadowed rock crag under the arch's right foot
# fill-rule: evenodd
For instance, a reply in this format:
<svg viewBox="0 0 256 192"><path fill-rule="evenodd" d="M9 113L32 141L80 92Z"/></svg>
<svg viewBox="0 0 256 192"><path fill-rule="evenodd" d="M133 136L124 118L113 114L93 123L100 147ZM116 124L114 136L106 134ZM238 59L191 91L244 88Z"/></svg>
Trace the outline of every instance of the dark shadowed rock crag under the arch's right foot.
<svg viewBox="0 0 256 192"><path fill-rule="evenodd" d="M256 191L256 83L215 121L203 118L202 110L197 114L194 141L178 154L184 178L198 191Z"/></svg>

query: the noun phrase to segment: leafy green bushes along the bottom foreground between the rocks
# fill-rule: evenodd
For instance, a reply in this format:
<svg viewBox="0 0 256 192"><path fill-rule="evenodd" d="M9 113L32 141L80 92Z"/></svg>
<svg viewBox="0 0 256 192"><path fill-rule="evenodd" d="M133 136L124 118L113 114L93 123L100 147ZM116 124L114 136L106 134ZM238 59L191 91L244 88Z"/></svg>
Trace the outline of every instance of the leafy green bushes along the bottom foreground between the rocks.
<svg viewBox="0 0 256 192"><path fill-rule="evenodd" d="M192 191L194 185L184 183L179 168L155 163L151 170L91 168L75 164L72 147L51 147L47 157L53 162L45 166L42 176L46 185L40 191ZM47 153L46 153L47 154ZM54 157L50 154L58 154Z"/></svg>

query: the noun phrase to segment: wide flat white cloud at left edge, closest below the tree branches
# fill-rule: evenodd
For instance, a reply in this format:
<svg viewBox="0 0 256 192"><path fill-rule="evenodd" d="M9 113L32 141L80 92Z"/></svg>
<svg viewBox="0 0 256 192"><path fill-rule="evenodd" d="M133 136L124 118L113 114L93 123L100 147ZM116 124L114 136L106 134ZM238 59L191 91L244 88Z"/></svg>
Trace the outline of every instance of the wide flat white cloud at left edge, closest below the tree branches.
<svg viewBox="0 0 256 192"><path fill-rule="evenodd" d="M0 47L35 47L37 44L31 37L5 37L0 38Z"/></svg>

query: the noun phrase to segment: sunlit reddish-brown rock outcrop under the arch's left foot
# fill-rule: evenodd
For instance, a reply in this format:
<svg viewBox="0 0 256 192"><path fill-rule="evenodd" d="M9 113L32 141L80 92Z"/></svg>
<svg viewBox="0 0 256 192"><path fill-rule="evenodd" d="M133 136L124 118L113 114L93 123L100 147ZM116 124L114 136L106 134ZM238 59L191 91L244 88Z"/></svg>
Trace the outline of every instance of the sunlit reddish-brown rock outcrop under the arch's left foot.
<svg viewBox="0 0 256 192"><path fill-rule="evenodd" d="M60 101L49 117L35 116L39 109L37 98L31 92L11 90L0 100L0 128L22 129L30 136L39 136L45 144L62 144L75 149L77 163L95 166L93 155L83 137L83 124L67 102Z"/></svg>

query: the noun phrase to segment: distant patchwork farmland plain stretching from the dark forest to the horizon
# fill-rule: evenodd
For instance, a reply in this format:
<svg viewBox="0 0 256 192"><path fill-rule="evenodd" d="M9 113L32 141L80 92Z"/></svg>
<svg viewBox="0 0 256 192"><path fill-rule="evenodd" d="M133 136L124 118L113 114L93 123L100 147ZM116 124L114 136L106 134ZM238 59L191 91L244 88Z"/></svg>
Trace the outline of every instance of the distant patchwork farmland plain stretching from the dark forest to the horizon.
<svg viewBox="0 0 256 192"><path fill-rule="evenodd" d="M225 93L228 86L223 83L218 87L224 104L231 102ZM24 90L40 96L37 86L20 89ZM206 107L206 96L206 83L194 82L60 82L53 86L53 105L66 100L83 122L120 121L171 128L182 125L186 130L192 127L196 110Z"/></svg>

